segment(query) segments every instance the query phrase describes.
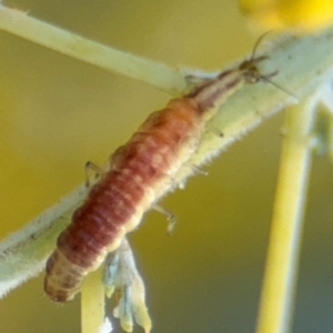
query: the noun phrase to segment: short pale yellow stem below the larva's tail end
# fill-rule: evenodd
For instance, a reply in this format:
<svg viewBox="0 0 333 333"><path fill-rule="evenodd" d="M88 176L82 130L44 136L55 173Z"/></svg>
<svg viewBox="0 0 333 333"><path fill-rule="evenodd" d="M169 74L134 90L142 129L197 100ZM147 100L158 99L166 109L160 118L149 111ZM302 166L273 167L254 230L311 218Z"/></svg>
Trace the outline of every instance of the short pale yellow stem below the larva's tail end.
<svg viewBox="0 0 333 333"><path fill-rule="evenodd" d="M89 274L81 290L81 332L99 333L104 322L103 268Z"/></svg>

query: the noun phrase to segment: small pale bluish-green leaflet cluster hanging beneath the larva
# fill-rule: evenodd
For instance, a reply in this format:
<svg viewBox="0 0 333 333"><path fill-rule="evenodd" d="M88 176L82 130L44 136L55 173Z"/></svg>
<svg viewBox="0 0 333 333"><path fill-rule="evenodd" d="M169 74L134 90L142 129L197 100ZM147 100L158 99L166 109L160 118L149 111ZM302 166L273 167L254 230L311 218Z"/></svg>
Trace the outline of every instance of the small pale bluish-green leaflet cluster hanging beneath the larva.
<svg viewBox="0 0 333 333"><path fill-rule="evenodd" d="M108 297L111 297L113 292L118 296L113 315L120 319L122 329L132 332L134 317L145 333L150 332L151 320L145 305L144 284L127 239L107 256L103 283Z"/></svg>

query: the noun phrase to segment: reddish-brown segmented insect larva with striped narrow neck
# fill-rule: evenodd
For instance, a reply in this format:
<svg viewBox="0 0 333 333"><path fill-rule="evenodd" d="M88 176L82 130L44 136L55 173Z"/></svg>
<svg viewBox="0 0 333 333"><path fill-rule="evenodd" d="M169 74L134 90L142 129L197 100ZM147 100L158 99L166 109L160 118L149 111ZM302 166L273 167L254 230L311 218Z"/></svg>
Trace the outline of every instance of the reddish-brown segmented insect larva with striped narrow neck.
<svg viewBox="0 0 333 333"><path fill-rule="evenodd" d="M196 150L213 105L221 105L245 82L262 77L255 63L243 62L196 87L152 113L119 148L109 171L92 186L72 223L60 234L47 262L44 290L50 299L73 299L84 276L99 268L145 211L173 189L173 178Z"/></svg>

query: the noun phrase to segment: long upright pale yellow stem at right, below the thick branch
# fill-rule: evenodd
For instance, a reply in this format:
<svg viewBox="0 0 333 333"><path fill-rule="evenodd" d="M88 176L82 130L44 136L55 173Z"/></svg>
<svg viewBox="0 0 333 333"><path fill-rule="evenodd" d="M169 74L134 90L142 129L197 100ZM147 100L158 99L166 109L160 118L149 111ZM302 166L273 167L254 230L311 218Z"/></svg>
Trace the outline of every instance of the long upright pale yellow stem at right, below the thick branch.
<svg viewBox="0 0 333 333"><path fill-rule="evenodd" d="M311 131L315 100L286 113L271 239L256 333L290 332L302 221L311 164Z"/></svg>

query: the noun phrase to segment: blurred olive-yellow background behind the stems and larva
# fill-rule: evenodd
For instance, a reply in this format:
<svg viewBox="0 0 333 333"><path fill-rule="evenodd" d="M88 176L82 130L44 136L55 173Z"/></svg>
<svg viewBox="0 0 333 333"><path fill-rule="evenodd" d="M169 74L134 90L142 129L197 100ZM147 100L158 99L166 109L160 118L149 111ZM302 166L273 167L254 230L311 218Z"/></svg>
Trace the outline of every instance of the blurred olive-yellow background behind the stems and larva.
<svg viewBox="0 0 333 333"><path fill-rule="evenodd" d="M6 3L105 44L204 70L250 52L260 33L249 30L230 0ZM103 164L170 97L4 32L0 43L4 238L82 183L88 160ZM131 234L153 332L254 332L282 122L283 114L266 121L208 167L209 176L191 179L163 200L179 221L171 238L155 212ZM333 330L332 201L333 168L317 158L293 332ZM79 297L53 304L42 276L33 279L0 301L0 332L79 333Z"/></svg>

